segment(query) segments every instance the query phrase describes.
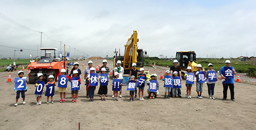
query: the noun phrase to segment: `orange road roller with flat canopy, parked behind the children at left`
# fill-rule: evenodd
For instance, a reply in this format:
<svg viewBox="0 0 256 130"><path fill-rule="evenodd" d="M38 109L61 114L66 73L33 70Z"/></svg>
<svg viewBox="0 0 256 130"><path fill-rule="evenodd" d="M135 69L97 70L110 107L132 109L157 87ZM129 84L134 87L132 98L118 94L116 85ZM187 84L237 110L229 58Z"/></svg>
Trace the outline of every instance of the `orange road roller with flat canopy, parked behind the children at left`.
<svg viewBox="0 0 256 130"><path fill-rule="evenodd" d="M66 69L66 74L68 74L67 61L64 59L57 59L55 51L57 48L40 48L40 50L45 50L45 56L41 56L41 60L38 62L30 61L28 65L29 73L29 83L35 84L35 81L38 80L37 73L42 73L44 75L44 81L48 82L48 76L53 75L56 80L56 75L60 72L61 69ZM51 52L54 51L54 56L51 56Z"/></svg>

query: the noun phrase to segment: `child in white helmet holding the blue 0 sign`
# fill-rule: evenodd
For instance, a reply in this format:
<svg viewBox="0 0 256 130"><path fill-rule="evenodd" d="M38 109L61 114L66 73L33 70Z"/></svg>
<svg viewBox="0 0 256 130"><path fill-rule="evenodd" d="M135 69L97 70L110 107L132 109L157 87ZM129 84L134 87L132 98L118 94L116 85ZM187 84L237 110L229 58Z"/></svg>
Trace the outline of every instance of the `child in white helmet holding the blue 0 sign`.
<svg viewBox="0 0 256 130"><path fill-rule="evenodd" d="M36 87L36 91L37 91L37 87L39 87L38 85L43 82L42 79L44 79L44 75L42 75L42 73L37 73L37 77L38 77L38 80L35 81L35 87ZM44 87L45 87L45 84L44 86L40 86L42 88L40 88L39 90L41 90L41 94L35 94L35 97L36 97L36 105L41 105L41 100L42 100L42 95L45 93L44 92ZM38 102L39 101L39 102Z"/></svg>

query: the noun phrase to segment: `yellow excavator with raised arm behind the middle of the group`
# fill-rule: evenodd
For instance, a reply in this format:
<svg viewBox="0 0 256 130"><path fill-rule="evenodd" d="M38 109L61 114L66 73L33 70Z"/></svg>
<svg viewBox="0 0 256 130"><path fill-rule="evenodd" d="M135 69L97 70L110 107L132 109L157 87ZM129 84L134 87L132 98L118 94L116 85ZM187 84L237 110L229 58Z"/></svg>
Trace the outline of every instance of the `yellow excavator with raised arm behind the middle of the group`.
<svg viewBox="0 0 256 130"><path fill-rule="evenodd" d="M121 66L124 68L124 74L129 74L132 69L132 64L137 64L137 69L144 66L144 54L143 49L138 49L138 33L137 31L133 31L132 36L128 39L126 44L124 45L124 56L117 56L117 51L114 51L116 56L113 59L113 67L116 67L116 62L120 60L122 62ZM146 51L145 51L146 54ZM114 70L113 70L114 76Z"/></svg>

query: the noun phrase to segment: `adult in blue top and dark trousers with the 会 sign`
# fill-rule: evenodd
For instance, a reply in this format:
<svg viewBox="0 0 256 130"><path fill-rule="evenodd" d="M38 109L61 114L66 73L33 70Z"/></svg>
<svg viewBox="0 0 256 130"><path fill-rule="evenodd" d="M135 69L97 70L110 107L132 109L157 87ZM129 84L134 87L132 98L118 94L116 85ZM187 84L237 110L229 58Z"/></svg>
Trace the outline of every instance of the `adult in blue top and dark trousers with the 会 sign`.
<svg viewBox="0 0 256 130"><path fill-rule="evenodd" d="M227 89L229 87L231 100L234 101L234 79L233 75L236 75L237 72L232 66L230 66L230 61L225 61L225 66L221 67L220 75L222 77L223 85L223 100L227 99ZM231 77L231 78L230 78Z"/></svg>

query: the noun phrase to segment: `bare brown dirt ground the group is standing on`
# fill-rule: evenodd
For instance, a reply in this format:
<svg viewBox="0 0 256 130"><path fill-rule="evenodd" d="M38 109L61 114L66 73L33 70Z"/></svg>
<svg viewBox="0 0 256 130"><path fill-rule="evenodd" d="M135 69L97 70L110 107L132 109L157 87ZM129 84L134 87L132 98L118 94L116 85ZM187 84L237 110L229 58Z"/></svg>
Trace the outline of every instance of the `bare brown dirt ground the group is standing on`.
<svg viewBox="0 0 256 130"><path fill-rule="evenodd" d="M102 60L93 62L96 66ZM112 61L108 62L107 66L113 68ZM79 68L84 70L88 60L79 63ZM144 68L153 70L152 67ZM25 76L27 72L25 70ZM17 71L11 72L15 73ZM0 76L8 74L9 72L1 72ZM12 83L6 83L8 77L1 77L0 129L78 129L78 122L81 129L256 129L255 84L234 83L236 101L230 100L229 90L227 100L222 100L223 87L220 81L215 87L215 100L208 98L206 84L203 85L203 99L196 98L195 85L192 87L192 99L187 99L183 80L182 98L163 99L164 82L159 80L160 73L157 74L160 96L156 99L146 98L147 93L144 92L144 101L139 101L138 98L130 101L127 86L123 86L123 98L113 101L111 80L106 101L101 101L97 95L98 86L95 101L89 102L86 98L86 87L82 83L78 101L72 103L69 83L65 103L59 103L56 87L54 104L47 105L47 97L43 96L42 105L37 106L35 87L28 84L26 105L22 105L22 98L19 98L17 107L14 107L16 93L13 90L14 77L17 75L12 75ZM145 91L147 88L148 86Z"/></svg>

